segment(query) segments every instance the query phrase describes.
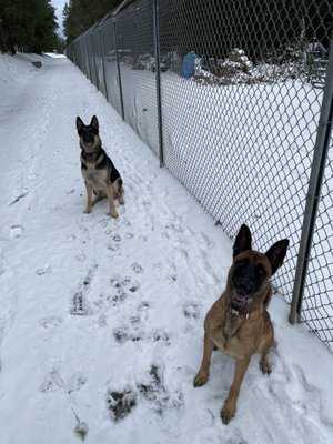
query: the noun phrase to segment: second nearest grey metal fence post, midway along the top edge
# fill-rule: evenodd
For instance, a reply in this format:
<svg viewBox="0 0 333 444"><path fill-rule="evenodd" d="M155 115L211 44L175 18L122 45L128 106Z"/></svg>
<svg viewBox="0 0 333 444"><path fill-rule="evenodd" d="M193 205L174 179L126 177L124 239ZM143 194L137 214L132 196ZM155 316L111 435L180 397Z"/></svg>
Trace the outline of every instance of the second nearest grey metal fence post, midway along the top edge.
<svg viewBox="0 0 333 444"><path fill-rule="evenodd" d="M160 167L162 168L164 165L164 157L163 157L162 98L161 98L161 69L160 69L160 27L159 27L158 0L153 0L153 22L154 22L154 52L155 52L158 124L159 124L159 149L160 149Z"/></svg>

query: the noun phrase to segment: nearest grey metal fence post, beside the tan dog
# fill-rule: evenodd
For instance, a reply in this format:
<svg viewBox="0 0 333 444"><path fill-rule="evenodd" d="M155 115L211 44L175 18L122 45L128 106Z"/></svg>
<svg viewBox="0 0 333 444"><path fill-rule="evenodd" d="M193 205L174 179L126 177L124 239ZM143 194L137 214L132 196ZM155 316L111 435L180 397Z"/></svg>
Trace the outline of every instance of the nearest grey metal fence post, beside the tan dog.
<svg viewBox="0 0 333 444"><path fill-rule="evenodd" d="M293 297L289 321L291 324L300 321L305 280L309 262L311 259L311 246L315 228L321 189L325 171L325 164L330 147L330 137L333 119L333 32L330 43L329 65L326 71L326 82L323 93L323 101L316 133L313 163L311 169L307 198L304 211L301 243L297 256L295 281L293 286Z"/></svg>

